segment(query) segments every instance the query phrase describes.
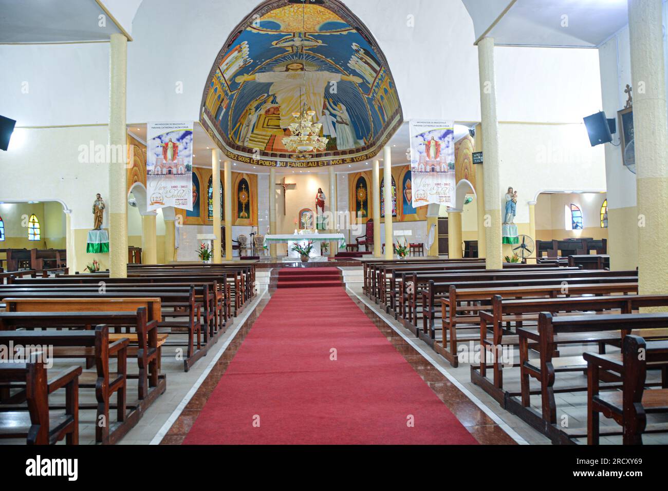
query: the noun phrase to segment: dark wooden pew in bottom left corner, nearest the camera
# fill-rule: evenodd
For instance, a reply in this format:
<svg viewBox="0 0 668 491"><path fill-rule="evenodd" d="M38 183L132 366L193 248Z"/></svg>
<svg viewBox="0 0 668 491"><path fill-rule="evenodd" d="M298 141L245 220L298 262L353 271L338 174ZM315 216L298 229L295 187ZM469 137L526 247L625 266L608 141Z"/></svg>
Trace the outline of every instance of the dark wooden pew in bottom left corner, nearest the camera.
<svg viewBox="0 0 668 491"><path fill-rule="evenodd" d="M0 411L0 438L25 438L29 445L55 444L65 438L79 444L78 378L81 367L73 366L58 378L47 380L41 363L0 364L0 384L25 386L27 411ZM65 414L49 414L49 394L65 389ZM0 406L1 407L1 406Z"/></svg>

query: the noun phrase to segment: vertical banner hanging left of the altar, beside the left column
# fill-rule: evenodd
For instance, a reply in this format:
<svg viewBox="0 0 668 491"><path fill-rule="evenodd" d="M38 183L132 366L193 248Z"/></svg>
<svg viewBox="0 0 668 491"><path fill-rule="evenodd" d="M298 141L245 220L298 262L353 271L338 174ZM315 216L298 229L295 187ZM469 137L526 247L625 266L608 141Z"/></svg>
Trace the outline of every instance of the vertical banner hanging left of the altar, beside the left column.
<svg viewBox="0 0 668 491"><path fill-rule="evenodd" d="M148 123L146 195L148 210L165 206L192 210L192 121Z"/></svg>

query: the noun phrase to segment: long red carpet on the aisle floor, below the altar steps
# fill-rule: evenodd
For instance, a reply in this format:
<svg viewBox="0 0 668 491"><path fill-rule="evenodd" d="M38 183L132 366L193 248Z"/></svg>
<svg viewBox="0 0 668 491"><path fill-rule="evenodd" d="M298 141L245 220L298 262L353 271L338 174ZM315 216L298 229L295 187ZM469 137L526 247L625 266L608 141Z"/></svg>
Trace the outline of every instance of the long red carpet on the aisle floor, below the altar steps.
<svg viewBox="0 0 668 491"><path fill-rule="evenodd" d="M276 290L184 440L474 443L341 287Z"/></svg>

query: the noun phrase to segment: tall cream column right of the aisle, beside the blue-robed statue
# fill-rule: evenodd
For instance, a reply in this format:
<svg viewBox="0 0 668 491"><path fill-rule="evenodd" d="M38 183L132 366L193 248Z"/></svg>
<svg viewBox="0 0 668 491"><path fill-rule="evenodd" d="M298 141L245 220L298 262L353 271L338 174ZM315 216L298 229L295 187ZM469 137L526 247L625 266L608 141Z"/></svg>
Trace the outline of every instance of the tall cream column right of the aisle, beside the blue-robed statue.
<svg viewBox="0 0 668 491"><path fill-rule="evenodd" d="M482 115L482 151L484 159L485 252L488 270L503 266L501 237L501 184L498 156L498 119L496 117L496 78L494 76L494 38L478 43L480 71L480 112Z"/></svg>

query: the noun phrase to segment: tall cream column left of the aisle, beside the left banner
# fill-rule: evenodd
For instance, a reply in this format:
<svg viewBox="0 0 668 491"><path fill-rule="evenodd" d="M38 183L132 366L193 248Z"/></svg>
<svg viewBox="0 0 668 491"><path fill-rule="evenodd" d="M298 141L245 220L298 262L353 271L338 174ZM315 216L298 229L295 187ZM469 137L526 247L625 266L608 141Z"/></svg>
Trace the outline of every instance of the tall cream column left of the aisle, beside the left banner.
<svg viewBox="0 0 668 491"><path fill-rule="evenodd" d="M111 36L109 89L110 148L125 148L126 81L128 67L128 38L120 33ZM128 276L128 190L126 186L126 152L112 151L112 159L123 155L122 161L109 163L109 272L111 278ZM116 154L116 155L115 155Z"/></svg>

